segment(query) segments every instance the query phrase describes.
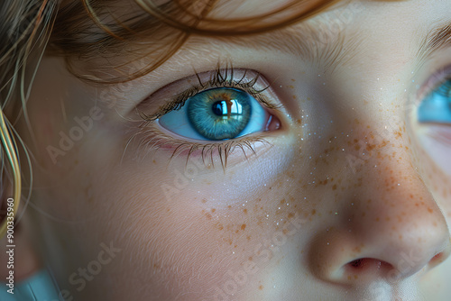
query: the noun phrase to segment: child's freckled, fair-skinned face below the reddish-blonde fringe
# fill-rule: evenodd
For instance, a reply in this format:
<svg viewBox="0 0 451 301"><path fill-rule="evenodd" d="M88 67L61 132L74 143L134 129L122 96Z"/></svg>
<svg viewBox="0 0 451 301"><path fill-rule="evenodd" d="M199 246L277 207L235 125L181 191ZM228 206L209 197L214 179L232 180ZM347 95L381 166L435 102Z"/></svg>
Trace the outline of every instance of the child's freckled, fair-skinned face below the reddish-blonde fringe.
<svg viewBox="0 0 451 301"><path fill-rule="evenodd" d="M428 49L450 12L446 0L342 3L278 32L192 37L161 68L107 88L43 59L29 102L32 201L64 296L447 300L451 113L419 114L451 74L449 28L447 44ZM257 95L278 106L255 100L267 115L251 114L256 130L233 140L225 169L218 145L230 141L203 138L189 155L196 122L177 128L188 105L141 129L135 111L158 113L198 85L194 69L205 84L218 61L235 86L259 72L254 88L270 88ZM198 99L207 109L192 118L206 129L220 107Z"/></svg>

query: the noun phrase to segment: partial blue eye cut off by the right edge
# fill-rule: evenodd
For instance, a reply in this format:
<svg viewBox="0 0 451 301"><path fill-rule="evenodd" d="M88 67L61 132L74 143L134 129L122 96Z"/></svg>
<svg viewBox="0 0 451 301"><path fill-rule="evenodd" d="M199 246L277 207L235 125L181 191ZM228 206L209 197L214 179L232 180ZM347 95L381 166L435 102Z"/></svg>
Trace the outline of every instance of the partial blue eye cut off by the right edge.
<svg viewBox="0 0 451 301"><path fill-rule="evenodd" d="M451 79L421 102L418 118L419 123L451 123Z"/></svg>

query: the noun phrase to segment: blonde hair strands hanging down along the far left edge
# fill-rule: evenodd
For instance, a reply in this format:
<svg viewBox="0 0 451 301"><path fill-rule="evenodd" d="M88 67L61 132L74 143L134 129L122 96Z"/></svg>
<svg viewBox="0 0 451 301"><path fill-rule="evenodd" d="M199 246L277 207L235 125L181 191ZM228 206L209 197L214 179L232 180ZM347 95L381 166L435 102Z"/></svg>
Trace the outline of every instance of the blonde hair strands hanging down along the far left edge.
<svg viewBox="0 0 451 301"><path fill-rule="evenodd" d="M6 112L22 110L22 114L27 116L25 103L34 73L29 59L39 61L50 36L47 24L52 23L51 18L57 4L57 1L51 0L16 0L5 1L0 7L0 205L5 207L6 200L13 198L14 218L22 197L21 147L30 169L31 164L23 142L14 130L12 114L8 118ZM34 69L36 67L37 65ZM14 101L15 99L20 99L21 102ZM32 177L31 173L30 176ZM5 216L0 223L0 237L5 235L8 224L12 224L11 221L8 223L9 218L8 214L8 218Z"/></svg>

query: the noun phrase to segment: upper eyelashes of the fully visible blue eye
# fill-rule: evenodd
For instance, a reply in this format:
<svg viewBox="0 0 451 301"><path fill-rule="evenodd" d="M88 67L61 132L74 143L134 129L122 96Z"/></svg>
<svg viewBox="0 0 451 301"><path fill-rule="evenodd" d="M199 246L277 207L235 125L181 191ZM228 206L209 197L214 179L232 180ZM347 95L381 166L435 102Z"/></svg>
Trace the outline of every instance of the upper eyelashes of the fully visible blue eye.
<svg viewBox="0 0 451 301"><path fill-rule="evenodd" d="M248 70L247 69L244 70L244 75L239 80L235 80L234 70L235 69L233 67L220 68L218 65L218 67L214 71L215 73L205 83L202 82L202 79L200 79L198 72L196 72L196 77L198 78L198 85L193 85L189 89L180 93L173 100L169 101L165 105L161 105L158 112L155 114L146 114L140 110L138 110L138 114L141 116L141 118L143 118L143 121L145 123L155 121L164 114L168 114L174 110L179 110L183 105L185 105L189 97L195 96L198 93L207 90L208 88L214 87L241 88L245 92L253 96L253 98L259 101L262 105L266 106L269 109L278 109L281 107L281 105L272 104L264 96L262 96L262 92L268 89L270 87L269 85L267 87L262 88L261 90L257 90L254 88L255 84L257 83L258 79L261 76L260 73L257 72L255 78L251 79L250 81L244 82L244 78L246 77Z"/></svg>

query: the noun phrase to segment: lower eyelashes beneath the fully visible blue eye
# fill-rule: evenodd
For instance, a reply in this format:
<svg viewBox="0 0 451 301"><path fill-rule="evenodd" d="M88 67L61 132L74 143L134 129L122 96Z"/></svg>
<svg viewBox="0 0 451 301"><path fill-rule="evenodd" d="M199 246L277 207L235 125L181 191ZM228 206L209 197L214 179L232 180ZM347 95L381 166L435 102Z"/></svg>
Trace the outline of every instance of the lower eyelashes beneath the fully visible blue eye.
<svg viewBox="0 0 451 301"><path fill-rule="evenodd" d="M158 131L156 127L157 126L155 124L150 123L146 123L144 126L141 126L139 131L133 133L127 141L124 152L129 148L130 144L137 143L137 153L135 158L138 160L144 160L152 151L172 150L168 165L172 159L175 159L180 155L186 155L187 164L189 158L191 156L195 156L200 157L206 166L211 164L213 168L215 167L214 157L217 156L221 161L222 168L226 170L227 159L234 150L241 150L244 154L245 160L248 160L248 153L246 153L246 150L250 150L253 155L256 155L254 150L255 143L260 142L265 146L272 146L269 141L262 138L263 135L257 135L252 138L243 137L242 139L214 143L182 141L179 139L174 139L173 137Z"/></svg>

